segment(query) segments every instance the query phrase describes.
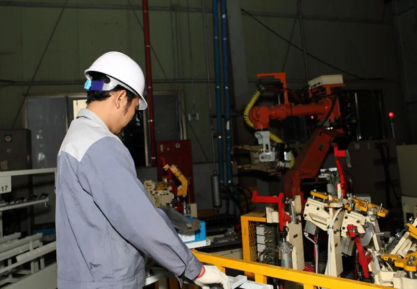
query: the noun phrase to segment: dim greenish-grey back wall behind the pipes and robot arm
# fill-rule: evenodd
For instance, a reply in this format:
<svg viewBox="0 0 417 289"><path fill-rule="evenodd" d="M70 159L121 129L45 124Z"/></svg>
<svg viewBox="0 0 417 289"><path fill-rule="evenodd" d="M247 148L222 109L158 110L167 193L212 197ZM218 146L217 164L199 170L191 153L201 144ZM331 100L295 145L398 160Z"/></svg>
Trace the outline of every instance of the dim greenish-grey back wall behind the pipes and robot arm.
<svg viewBox="0 0 417 289"><path fill-rule="evenodd" d="M14 1L11 4L10 1L0 1L3 5L11 5L0 8L0 26L2 27L0 30L0 79L31 81L60 14L59 7L34 8L30 6L38 3L37 1L26 0L26 2L25 7L20 7ZM155 53L152 53L153 78L158 82L154 85L154 90L184 89L185 109L189 113L193 108L193 85L191 83L168 85L161 82L164 82L164 79L193 79L195 81L195 110L199 113L200 120L188 124L188 138L193 142L194 162L206 162L204 155L208 159L211 158L211 131L208 123L207 85L201 83L206 78L202 13L199 10L201 1L189 1L193 8L197 8L190 12L192 63L190 63L188 47L188 19L184 10L186 0L172 1L173 7L180 8L178 12L166 9L170 6L168 0L150 2L152 5L149 13L151 42L163 66L162 69L158 65ZM382 88L384 90L386 107L396 113L398 141L404 142L406 141L405 119L401 89L397 83L400 76L395 50L395 30L391 23L391 5L384 8L383 2L380 0L337 2L303 0L306 47L314 56L352 74L363 78L389 79L389 81L357 81L350 76L345 76L349 88ZM56 4L57 1L49 3ZM143 33L134 13L129 10L92 7L97 4L100 8L109 8L113 4L126 6L129 1L113 0L103 3L98 0L79 0L69 1L69 3L72 6L63 12L35 81L62 81L66 84L71 81L82 82L83 70L97 56L109 50L128 53L140 65L145 66ZM139 0L131 0L131 3L134 6L141 5ZM208 57L213 77L211 1L206 0L205 3ZM91 5L85 6L86 4ZM75 6L79 8L75 9ZM241 6L254 13L259 20L287 39L291 38L295 22L293 42L301 46L300 26L295 20L297 19L297 1L242 0ZM142 11L136 10L136 13L142 22ZM268 16L264 16L267 14ZM250 79L254 79L256 73L284 70L287 73L290 88L300 88L305 85L302 52L290 48L286 58L288 44L246 15L243 16L243 28L247 76ZM177 43L177 40L180 43ZM177 46L180 48L180 53L178 53ZM312 58L309 58L308 64L311 78L321 74L339 73ZM193 74L190 73L191 67ZM82 92L82 86L81 84L33 85L28 94ZM252 86L250 88L252 89ZM10 127L21 104L22 94L26 93L27 89L27 86L13 85L2 88L0 84L0 101L3 103L0 106L0 129ZM213 84L211 84L211 92L213 96ZM21 115L16 127L23 126L23 124L24 115Z"/></svg>

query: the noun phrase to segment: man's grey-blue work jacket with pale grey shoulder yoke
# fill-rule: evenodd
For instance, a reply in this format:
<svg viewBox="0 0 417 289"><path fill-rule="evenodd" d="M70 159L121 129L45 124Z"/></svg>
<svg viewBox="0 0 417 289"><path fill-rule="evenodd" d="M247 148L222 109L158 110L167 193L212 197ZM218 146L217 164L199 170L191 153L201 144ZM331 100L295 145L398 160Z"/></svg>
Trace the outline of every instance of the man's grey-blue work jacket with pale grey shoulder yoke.
<svg viewBox="0 0 417 289"><path fill-rule="evenodd" d="M88 109L58 153L56 238L59 289L140 288L146 255L179 279L202 269L150 201L129 150Z"/></svg>

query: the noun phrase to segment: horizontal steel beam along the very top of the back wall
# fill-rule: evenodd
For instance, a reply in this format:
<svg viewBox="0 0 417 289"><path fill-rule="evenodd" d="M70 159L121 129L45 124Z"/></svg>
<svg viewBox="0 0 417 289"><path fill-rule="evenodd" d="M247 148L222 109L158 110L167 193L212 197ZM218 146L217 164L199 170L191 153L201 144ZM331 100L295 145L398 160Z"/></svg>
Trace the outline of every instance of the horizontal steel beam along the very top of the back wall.
<svg viewBox="0 0 417 289"><path fill-rule="evenodd" d="M21 7L21 8L63 8L64 3L51 2L24 2L24 1L0 1L0 6L3 7ZM121 5L121 4L93 4L93 3L68 3L65 6L67 9L96 9L96 10L142 10L139 5ZM172 11L177 10L187 12L187 7L173 5L169 6L149 6L149 11ZM202 8L190 8L192 13L202 13ZM206 9L206 13L211 13L211 9ZM297 14L292 13L274 13L274 12L256 12L249 11L250 14L258 17L277 17L277 18L291 18L298 17ZM303 19L314 21L328 21L328 22L347 22L347 23L362 23L362 24L382 24L393 25L392 22L384 22L379 19L363 19L363 18L338 18L332 16L322 15L303 15Z"/></svg>

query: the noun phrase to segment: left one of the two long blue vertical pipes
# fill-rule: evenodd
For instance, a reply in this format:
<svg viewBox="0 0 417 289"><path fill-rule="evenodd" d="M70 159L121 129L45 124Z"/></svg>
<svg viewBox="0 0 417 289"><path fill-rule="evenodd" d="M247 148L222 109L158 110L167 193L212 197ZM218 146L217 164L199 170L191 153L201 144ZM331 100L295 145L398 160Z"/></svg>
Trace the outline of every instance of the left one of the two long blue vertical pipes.
<svg viewBox="0 0 417 289"><path fill-rule="evenodd" d="M215 81L215 106L217 111L218 126L218 162L219 181L224 183L223 160L223 117L222 117L222 90L220 88L220 42L219 42L219 18L218 1L213 0L213 44L214 44L214 81Z"/></svg>

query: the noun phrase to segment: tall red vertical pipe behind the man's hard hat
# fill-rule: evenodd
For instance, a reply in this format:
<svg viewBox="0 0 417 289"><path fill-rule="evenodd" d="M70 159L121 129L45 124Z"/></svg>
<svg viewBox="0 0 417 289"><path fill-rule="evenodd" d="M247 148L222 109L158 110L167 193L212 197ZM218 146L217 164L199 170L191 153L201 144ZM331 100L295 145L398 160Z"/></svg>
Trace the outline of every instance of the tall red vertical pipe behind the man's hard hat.
<svg viewBox="0 0 417 289"><path fill-rule="evenodd" d="M146 64L146 85L148 102L149 138L151 142L151 164L156 166L156 140L154 124L154 94L152 90L152 65L151 65L151 40L149 39L149 13L148 1L142 0L143 11L143 33L145 36L145 64Z"/></svg>

